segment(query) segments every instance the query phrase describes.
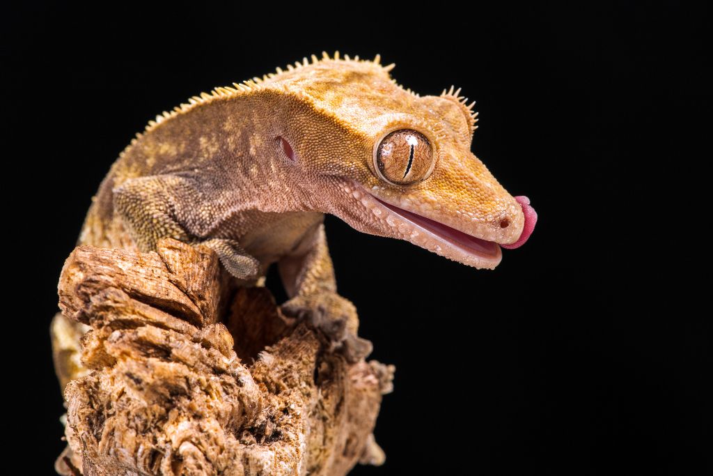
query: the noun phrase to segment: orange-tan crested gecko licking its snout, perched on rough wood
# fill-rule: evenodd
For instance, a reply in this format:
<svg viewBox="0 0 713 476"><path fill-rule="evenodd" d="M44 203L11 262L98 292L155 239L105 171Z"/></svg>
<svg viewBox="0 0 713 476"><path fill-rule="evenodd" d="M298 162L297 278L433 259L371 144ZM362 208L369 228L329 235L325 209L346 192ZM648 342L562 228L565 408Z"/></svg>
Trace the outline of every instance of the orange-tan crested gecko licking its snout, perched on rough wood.
<svg viewBox="0 0 713 476"><path fill-rule="evenodd" d="M349 360L368 355L356 309L337 293L325 213L487 269L537 220L529 199L471 153L474 102L453 86L420 96L391 78L393 67L378 55L312 55L164 112L111 166L78 245L200 243L241 283L277 263L283 313L307 319Z"/></svg>

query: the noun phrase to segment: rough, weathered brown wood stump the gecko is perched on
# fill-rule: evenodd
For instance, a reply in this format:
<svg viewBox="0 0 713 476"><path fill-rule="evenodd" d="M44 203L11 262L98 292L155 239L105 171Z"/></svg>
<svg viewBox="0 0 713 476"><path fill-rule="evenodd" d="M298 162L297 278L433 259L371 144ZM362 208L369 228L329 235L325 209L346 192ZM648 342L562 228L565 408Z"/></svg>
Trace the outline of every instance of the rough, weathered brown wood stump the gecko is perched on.
<svg viewBox="0 0 713 476"><path fill-rule="evenodd" d="M91 373L65 390L61 474L344 475L384 461L371 432L394 368L328 353L265 288L231 289L207 248L81 246L59 295L91 326Z"/></svg>

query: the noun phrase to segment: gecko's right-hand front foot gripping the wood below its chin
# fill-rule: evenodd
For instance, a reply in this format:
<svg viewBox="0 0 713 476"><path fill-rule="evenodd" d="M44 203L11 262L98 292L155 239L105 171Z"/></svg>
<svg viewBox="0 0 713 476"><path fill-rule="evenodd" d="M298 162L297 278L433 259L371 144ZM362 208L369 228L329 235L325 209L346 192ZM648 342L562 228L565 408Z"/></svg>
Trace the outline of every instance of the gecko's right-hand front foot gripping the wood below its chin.
<svg viewBox="0 0 713 476"><path fill-rule="evenodd" d="M329 350L344 354L350 363L371 353L371 342L356 335L359 318L351 301L331 291L298 295L280 307L285 315L307 320L329 342Z"/></svg>

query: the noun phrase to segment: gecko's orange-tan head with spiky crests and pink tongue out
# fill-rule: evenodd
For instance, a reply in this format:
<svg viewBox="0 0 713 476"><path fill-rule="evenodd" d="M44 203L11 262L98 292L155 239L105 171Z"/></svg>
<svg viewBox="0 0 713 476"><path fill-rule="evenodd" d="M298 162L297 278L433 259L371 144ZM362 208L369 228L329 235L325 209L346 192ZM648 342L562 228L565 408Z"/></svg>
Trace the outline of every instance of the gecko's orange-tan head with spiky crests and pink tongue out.
<svg viewBox="0 0 713 476"><path fill-rule="evenodd" d="M310 67L300 94L323 125L312 121L299 148L323 211L476 268L529 238L537 215L471 152L476 113L459 90L419 96L369 61Z"/></svg>

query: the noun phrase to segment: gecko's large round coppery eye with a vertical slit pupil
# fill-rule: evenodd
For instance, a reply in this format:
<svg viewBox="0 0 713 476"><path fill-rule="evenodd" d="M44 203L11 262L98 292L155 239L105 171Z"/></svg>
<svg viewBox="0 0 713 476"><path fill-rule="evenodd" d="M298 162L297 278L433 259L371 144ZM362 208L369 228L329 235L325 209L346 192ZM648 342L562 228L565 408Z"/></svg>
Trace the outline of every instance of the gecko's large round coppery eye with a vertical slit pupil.
<svg viewBox="0 0 713 476"><path fill-rule="evenodd" d="M429 176L434 151L424 134L411 129L399 129L381 140L374 160L379 176L385 181L409 185Z"/></svg>

